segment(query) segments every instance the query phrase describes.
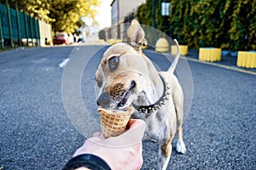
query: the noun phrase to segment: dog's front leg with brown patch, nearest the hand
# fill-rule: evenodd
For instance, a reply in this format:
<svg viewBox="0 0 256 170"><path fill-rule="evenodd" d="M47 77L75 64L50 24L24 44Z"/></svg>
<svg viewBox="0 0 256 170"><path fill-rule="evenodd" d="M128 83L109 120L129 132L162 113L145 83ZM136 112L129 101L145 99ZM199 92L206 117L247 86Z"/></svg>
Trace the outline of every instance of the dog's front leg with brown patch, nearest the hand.
<svg viewBox="0 0 256 170"><path fill-rule="evenodd" d="M168 162L172 154L172 139L174 135L169 136L166 140L159 145L158 153L158 169L166 170Z"/></svg>

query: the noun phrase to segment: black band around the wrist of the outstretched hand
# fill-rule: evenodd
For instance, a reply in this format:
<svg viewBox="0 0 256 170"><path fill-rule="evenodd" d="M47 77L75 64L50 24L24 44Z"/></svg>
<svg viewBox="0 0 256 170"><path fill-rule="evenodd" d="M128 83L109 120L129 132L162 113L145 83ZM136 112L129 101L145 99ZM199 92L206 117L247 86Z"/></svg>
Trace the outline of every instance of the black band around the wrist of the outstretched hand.
<svg viewBox="0 0 256 170"><path fill-rule="evenodd" d="M83 154L73 157L67 161L66 166L62 170L73 170L79 167L87 167L91 170L111 170L108 163L99 156L91 154Z"/></svg>

